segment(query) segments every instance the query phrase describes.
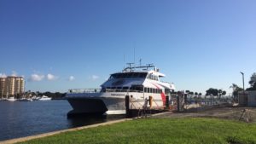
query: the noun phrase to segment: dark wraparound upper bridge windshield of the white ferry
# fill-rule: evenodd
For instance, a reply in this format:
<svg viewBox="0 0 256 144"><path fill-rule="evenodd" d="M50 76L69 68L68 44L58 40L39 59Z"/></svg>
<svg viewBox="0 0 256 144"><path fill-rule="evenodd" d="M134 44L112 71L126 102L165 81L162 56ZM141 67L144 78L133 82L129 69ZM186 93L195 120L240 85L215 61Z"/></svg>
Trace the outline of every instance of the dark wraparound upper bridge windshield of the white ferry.
<svg viewBox="0 0 256 144"><path fill-rule="evenodd" d="M146 78L147 72L125 72L125 73L114 73L109 79L114 78Z"/></svg>

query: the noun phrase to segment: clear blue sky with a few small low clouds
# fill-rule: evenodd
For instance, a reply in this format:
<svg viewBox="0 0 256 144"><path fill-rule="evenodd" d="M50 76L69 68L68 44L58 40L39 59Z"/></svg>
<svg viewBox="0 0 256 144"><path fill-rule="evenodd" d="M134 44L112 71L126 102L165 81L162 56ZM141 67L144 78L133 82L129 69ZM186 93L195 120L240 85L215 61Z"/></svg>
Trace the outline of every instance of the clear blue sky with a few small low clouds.
<svg viewBox="0 0 256 144"><path fill-rule="evenodd" d="M242 86L256 72L256 1L0 1L0 76L26 90L98 88L143 59L177 90ZM125 60L124 60L125 55Z"/></svg>

